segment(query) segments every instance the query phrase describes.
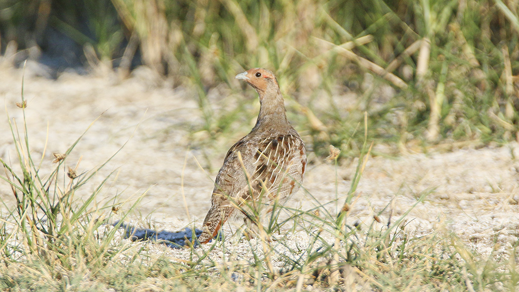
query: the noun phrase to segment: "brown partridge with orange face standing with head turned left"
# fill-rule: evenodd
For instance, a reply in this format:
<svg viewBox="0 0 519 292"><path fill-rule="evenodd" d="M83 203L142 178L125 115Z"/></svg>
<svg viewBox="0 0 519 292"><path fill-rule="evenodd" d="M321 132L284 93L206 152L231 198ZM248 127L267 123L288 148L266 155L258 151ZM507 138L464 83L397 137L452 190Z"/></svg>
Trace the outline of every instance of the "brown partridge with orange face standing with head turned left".
<svg viewBox="0 0 519 292"><path fill-rule="evenodd" d="M256 90L260 113L251 132L229 149L216 175L200 243L211 241L229 217L247 219L246 206L283 204L303 183L305 144L286 118L276 76L268 69L252 68L235 78Z"/></svg>

